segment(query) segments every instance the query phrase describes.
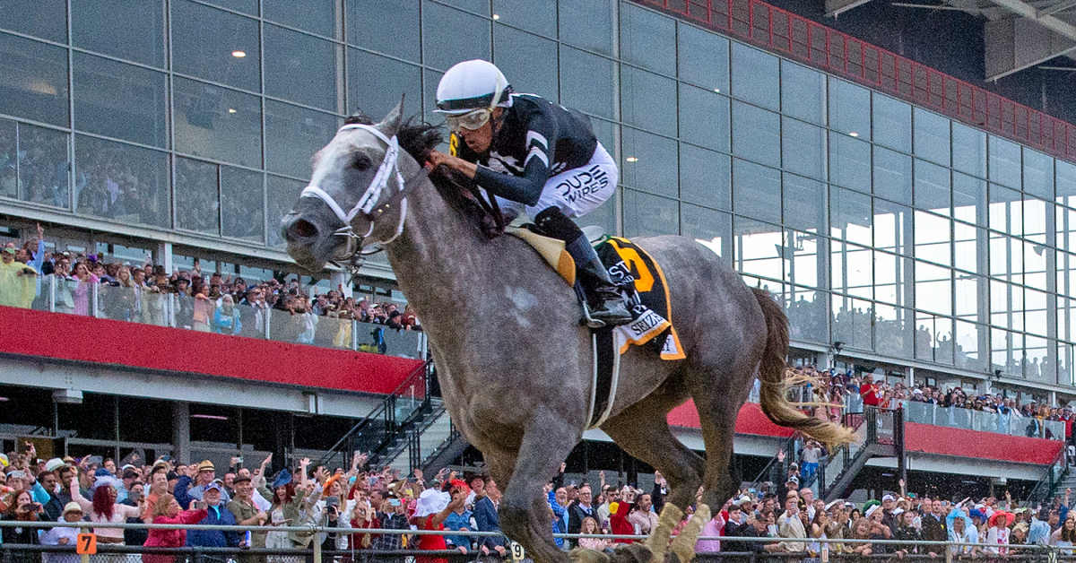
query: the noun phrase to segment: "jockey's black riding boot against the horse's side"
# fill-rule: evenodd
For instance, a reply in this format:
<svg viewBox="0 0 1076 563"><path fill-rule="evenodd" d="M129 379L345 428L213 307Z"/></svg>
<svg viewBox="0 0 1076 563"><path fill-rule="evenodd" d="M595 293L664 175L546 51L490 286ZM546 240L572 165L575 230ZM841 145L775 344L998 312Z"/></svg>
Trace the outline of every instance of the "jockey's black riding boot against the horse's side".
<svg viewBox="0 0 1076 563"><path fill-rule="evenodd" d="M609 279L609 271L579 226L555 207L538 213L535 224L544 234L565 241L565 250L576 262L576 282L586 294L586 300L592 304L591 319L605 326L632 322L632 313L624 307L624 299Z"/></svg>

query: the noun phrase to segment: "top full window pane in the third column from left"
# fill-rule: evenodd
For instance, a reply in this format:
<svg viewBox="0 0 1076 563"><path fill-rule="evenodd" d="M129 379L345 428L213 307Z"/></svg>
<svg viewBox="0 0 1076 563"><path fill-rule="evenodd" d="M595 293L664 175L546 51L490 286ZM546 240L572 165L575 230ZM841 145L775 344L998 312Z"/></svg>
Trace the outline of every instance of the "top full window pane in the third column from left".
<svg viewBox="0 0 1076 563"><path fill-rule="evenodd" d="M172 2L172 69L252 92L261 90L258 23L196 4ZM236 56L242 54L243 56Z"/></svg>

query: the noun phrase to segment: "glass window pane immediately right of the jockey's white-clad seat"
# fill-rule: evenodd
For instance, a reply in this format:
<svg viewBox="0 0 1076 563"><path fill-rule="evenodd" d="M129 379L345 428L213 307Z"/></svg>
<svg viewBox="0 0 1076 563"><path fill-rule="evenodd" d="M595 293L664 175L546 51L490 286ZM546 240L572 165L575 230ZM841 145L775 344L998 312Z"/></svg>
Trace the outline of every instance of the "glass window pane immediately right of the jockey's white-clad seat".
<svg viewBox="0 0 1076 563"><path fill-rule="evenodd" d="M629 127L623 128L621 141L624 149L624 161L620 166L621 183L652 194L676 197L676 141Z"/></svg>

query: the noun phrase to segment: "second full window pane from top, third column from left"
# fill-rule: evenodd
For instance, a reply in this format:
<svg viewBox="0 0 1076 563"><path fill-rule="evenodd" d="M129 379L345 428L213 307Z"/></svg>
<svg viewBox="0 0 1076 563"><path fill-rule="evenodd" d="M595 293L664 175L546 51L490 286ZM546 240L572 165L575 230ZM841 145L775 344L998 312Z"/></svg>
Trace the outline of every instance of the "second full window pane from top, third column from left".
<svg viewBox="0 0 1076 563"><path fill-rule="evenodd" d="M256 96L176 76L175 150L261 167L261 103Z"/></svg>

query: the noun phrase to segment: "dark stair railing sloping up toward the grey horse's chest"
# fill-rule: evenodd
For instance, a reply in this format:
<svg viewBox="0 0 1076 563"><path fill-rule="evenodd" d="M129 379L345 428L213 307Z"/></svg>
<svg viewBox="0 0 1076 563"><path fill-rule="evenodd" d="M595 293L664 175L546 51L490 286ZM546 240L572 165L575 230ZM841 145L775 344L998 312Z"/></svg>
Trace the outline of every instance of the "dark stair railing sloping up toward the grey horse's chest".
<svg viewBox="0 0 1076 563"><path fill-rule="evenodd" d="M367 463L377 465L401 428L429 408L433 369L433 361L413 369L369 414L337 440L318 464L346 467L355 452L369 452Z"/></svg>

